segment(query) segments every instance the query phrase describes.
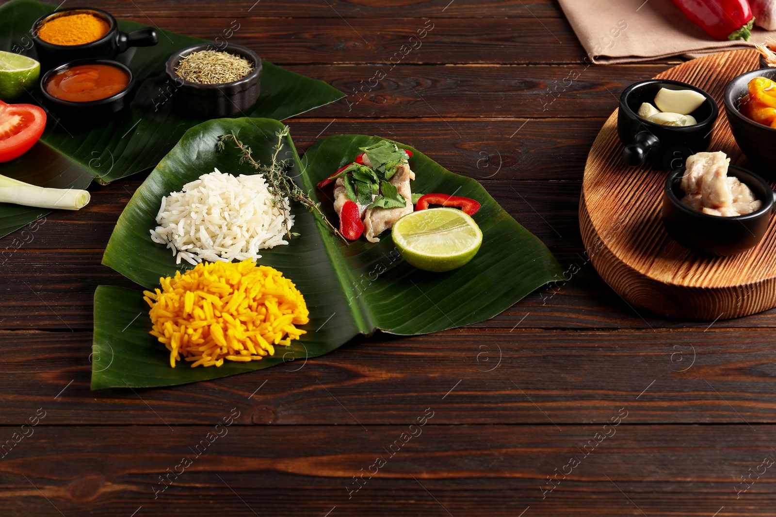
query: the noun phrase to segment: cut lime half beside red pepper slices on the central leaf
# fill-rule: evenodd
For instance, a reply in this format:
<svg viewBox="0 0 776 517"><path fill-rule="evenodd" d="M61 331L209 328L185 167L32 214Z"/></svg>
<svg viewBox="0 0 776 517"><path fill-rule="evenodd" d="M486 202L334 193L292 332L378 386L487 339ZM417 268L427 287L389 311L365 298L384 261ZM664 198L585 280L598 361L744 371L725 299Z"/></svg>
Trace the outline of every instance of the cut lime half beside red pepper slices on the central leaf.
<svg viewBox="0 0 776 517"><path fill-rule="evenodd" d="M450 271L472 260L483 233L459 209L426 209L404 215L391 230L401 256L424 271Z"/></svg>

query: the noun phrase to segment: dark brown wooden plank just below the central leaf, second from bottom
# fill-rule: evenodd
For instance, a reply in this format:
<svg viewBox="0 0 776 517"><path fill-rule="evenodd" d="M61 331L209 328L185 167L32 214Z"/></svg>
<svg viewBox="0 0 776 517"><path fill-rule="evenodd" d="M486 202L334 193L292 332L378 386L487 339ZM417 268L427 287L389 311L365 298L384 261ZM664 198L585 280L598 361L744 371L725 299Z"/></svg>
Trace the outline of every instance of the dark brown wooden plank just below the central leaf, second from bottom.
<svg viewBox="0 0 776 517"><path fill-rule="evenodd" d="M0 425L399 424L445 400L458 424L776 422L774 331L458 329L359 338L323 357L173 388L89 391L92 334L0 333ZM163 346L160 345L160 353ZM109 353L97 357L107 368ZM573 365L573 367L571 367ZM54 396L59 394L56 400ZM450 392L449 397L445 394ZM747 428L748 429L748 428Z"/></svg>

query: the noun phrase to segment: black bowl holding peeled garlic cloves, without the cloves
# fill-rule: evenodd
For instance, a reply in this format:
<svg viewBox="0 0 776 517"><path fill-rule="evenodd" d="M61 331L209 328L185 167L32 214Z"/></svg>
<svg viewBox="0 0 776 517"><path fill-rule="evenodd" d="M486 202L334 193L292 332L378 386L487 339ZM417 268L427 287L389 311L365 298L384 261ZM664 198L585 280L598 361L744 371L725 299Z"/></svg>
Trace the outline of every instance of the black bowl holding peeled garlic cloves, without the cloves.
<svg viewBox="0 0 776 517"><path fill-rule="evenodd" d="M686 127L661 126L637 115L643 102L655 104L655 95L660 88L693 90L702 94L706 98L705 102L691 113L698 123ZM636 166L652 159L668 171L681 167L688 156L708 149L718 115L719 107L714 98L692 84L668 79L650 79L631 84L620 95L617 115L617 132L625 145L622 160Z"/></svg>

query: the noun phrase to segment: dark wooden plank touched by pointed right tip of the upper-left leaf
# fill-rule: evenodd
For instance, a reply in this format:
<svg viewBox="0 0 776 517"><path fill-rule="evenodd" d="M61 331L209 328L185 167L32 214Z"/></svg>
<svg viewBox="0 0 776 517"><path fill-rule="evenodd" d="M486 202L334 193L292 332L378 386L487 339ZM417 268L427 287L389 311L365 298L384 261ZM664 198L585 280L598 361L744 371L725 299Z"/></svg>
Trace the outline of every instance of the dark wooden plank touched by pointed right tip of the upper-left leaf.
<svg viewBox="0 0 776 517"><path fill-rule="evenodd" d="M317 118L608 117L629 84L669 64L494 67L289 65L348 94ZM380 79L382 78L382 79ZM292 121L295 119L292 119ZM440 126L445 126L442 122ZM449 129L449 128L445 128Z"/></svg>

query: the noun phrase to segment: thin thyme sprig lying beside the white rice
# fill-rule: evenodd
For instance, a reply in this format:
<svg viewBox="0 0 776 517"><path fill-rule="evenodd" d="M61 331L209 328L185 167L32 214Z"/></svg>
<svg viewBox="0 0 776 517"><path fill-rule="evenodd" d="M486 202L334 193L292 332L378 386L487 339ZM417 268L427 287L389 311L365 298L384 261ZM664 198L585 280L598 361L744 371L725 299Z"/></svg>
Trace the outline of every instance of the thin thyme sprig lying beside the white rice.
<svg viewBox="0 0 776 517"><path fill-rule="evenodd" d="M254 159L251 155L251 147L245 145L241 140L237 139L237 135L234 131L230 131L228 135L221 135L218 137L217 149L224 150L227 142L234 142L234 146L240 150L240 163L250 164L257 171L261 172L267 181L267 190L272 194L272 204L283 215L283 224L286 226L286 233L289 238L292 235L299 235L298 233L291 233L289 224L289 210L286 208L285 198L289 198L292 201L300 203L308 212L313 213L320 217L320 219L326 224L331 233L338 236L343 242L348 243L345 237L334 227L331 222L326 218L324 212L320 210L320 203L314 202L312 195L303 191L296 183L293 182L288 175L288 169L291 164L291 160L278 160L278 155L282 149L283 138L289 135L289 126L283 126L283 129L276 131L275 136L278 137L277 143L272 148L272 164L262 165Z"/></svg>

